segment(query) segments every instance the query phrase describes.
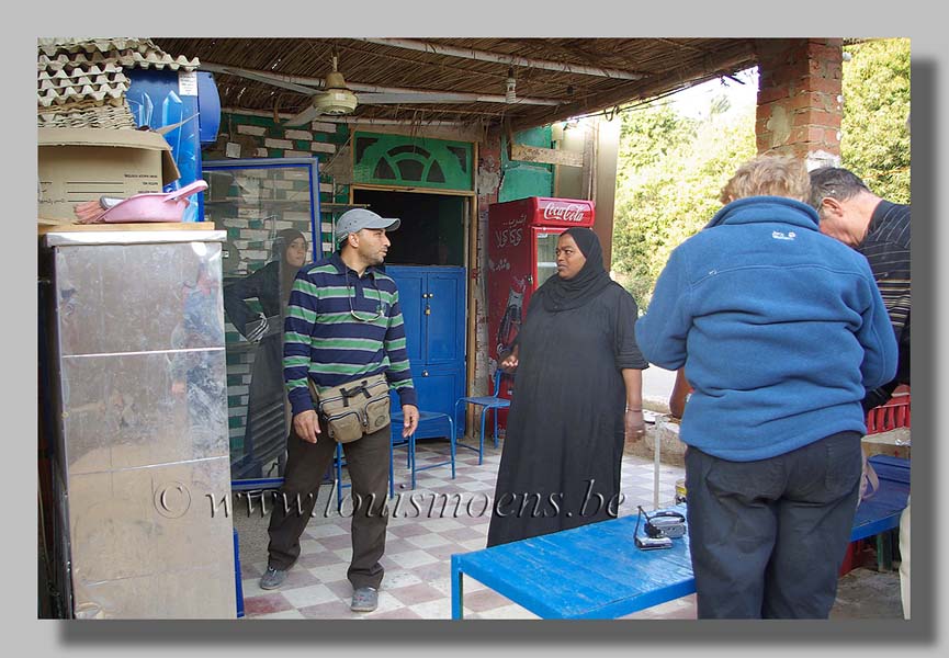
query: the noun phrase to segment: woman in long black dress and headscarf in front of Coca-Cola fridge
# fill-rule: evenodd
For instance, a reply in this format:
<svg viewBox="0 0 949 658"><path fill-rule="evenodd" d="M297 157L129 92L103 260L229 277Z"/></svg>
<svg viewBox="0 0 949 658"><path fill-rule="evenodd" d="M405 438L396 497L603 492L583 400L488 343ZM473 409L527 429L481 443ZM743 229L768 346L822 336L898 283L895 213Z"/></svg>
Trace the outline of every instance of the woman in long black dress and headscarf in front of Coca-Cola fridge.
<svg viewBox="0 0 949 658"><path fill-rule="evenodd" d="M517 381L488 546L617 517L624 440L645 434L635 302L592 230L564 231L556 258L500 362Z"/></svg>

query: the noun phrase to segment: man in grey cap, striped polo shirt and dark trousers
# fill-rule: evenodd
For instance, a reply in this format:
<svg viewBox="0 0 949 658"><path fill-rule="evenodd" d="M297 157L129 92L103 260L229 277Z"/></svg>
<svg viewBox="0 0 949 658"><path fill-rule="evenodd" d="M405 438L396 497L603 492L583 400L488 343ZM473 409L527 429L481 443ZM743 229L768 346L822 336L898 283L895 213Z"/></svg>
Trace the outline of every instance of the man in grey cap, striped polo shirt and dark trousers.
<svg viewBox="0 0 949 658"><path fill-rule="evenodd" d="M398 228L357 208L337 222L338 251L303 268L293 283L284 324L283 378L293 411L287 462L280 497L270 518L268 568L262 589L275 589L300 556L300 536L310 519L316 494L336 451L317 417L307 381L317 393L359 377L385 373L398 394L408 436L418 424L416 392L406 352L405 326L395 282L379 266L391 245L386 230ZM388 517L391 428L343 444L352 479L351 609L375 610L383 577Z"/></svg>

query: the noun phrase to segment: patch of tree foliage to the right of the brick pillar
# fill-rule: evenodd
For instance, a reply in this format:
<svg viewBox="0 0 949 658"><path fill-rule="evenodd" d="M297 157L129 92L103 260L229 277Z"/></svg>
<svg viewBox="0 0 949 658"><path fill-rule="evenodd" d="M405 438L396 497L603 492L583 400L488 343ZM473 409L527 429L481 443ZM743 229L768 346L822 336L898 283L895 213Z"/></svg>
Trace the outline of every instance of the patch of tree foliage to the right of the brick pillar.
<svg viewBox="0 0 949 658"><path fill-rule="evenodd" d="M910 203L910 39L867 41L845 52L843 167L874 194Z"/></svg>

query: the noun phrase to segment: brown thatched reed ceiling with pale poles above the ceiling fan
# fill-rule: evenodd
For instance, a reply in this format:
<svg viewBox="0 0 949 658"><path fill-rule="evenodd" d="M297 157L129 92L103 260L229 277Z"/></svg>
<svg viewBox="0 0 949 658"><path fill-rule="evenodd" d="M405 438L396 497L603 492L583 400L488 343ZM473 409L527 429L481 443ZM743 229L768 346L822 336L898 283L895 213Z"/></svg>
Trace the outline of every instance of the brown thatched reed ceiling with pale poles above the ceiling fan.
<svg viewBox="0 0 949 658"><path fill-rule="evenodd" d="M513 129L664 95L756 64L754 38L426 37L380 43L385 39L154 37L154 41L166 53L197 57L202 68L213 70L225 109L278 112L281 117L302 112L309 106L305 89L319 91L319 84L331 71L332 56L337 55L347 86L361 97L352 116L481 125L509 121ZM462 50L476 58L459 56ZM512 67L518 101L490 102L505 97L510 57L519 58ZM222 72L222 67L244 69L258 78L260 73L278 76L297 89ZM490 98L466 99L462 103L362 102L371 98L372 91L393 88L399 92Z"/></svg>

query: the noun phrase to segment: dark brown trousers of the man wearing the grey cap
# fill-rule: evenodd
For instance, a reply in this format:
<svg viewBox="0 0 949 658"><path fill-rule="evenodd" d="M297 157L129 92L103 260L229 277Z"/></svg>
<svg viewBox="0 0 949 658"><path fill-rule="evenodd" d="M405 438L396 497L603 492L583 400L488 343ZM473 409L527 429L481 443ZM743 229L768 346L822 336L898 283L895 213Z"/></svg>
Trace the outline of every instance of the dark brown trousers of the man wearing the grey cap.
<svg viewBox="0 0 949 658"><path fill-rule="evenodd" d="M300 439L293 431L287 439L286 473L268 527L268 564L276 569L289 569L300 557L300 536L309 523L319 483L336 451L336 442L323 423L320 429L316 443ZM342 446L352 481L352 560L347 577L353 588L379 588L382 582L384 569L379 560L385 552L388 523L391 441L391 429L385 427ZM343 513L346 509L343 503Z"/></svg>

